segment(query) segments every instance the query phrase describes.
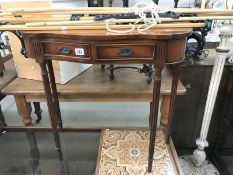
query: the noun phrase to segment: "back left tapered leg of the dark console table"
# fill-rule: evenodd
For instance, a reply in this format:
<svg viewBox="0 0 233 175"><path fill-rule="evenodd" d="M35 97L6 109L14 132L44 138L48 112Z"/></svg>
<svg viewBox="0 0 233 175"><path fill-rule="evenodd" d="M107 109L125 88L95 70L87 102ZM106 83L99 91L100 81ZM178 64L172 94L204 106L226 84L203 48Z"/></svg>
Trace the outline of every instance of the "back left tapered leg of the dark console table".
<svg viewBox="0 0 233 175"><path fill-rule="evenodd" d="M48 61L48 71L49 71L49 79L50 79L50 85L52 89L52 97L53 97L53 102L55 105L55 113L58 119L58 126L62 130L62 119L61 119L61 110L60 110L60 105L58 101L58 94L57 94L57 88L56 88L56 83L55 83L55 77L54 77L54 71L53 71L53 65L52 61Z"/></svg>

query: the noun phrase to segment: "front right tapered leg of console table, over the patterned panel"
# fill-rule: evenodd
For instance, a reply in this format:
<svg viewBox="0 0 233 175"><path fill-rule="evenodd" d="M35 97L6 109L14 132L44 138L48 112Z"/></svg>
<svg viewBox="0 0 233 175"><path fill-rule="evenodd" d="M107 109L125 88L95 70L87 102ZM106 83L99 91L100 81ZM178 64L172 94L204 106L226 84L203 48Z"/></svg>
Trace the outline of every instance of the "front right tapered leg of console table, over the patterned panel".
<svg viewBox="0 0 233 175"><path fill-rule="evenodd" d="M151 117L150 119L150 142L149 142L149 157L148 157L148 172L149 173L152 171L152 163L153 163L153 156L154 156L160 87L161 87L161 72L162 72L162 68L155 68L153 102L151 105L152 109L151 109L151 116L150 116Z"/></svg>

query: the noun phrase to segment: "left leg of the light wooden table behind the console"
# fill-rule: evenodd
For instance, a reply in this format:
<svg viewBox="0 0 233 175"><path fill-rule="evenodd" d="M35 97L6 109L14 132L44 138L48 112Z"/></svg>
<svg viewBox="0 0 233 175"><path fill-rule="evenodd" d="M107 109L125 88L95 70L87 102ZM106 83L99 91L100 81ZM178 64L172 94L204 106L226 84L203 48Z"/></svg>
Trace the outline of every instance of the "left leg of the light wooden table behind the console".
<svg viewBox="0 0 233 175"><path fill-rule="evenodd" d="M31 103L26 102L24 95L15 95L15 103L16 103L19 115L23 118L24 125L32 126Z"/></svg>

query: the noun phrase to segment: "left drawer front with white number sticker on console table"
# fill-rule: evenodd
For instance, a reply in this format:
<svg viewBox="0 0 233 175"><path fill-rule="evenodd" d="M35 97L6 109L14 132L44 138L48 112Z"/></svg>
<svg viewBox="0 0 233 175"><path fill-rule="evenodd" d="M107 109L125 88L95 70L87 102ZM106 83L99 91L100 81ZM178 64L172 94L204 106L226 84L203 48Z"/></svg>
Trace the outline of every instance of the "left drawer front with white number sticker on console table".
<svg viewBox="0 0 233 175"><path fill-rule="evenodd" d="M90 44L42 41L43 54L46 56L67 56L90 59Z"/></svg>

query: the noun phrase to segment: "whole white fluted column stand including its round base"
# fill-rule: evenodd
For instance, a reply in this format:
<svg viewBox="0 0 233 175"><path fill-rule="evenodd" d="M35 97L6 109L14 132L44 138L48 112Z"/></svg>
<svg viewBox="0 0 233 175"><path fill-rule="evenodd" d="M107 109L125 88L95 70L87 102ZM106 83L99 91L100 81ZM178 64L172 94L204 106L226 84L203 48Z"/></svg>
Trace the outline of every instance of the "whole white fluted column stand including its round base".
<svg viewBox="0 0 233 175"><path fill-rule="evenodd" d="M216 60L211 75L200 137L196 140L198 147L193 152L193 155L180 157L180 163L184 175L197 175L197 173L198 175L219 175L216 167L211 164L211 162L206 160L206 153L204 149L208 147L207 134L209 131L210 121L212 118L227 53L229 52L226 44L227 41L233 36L232 33L233 26L223 26L221 29L221 33L219 35L220 45L216 49Z"/></svg>

